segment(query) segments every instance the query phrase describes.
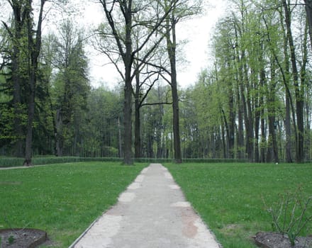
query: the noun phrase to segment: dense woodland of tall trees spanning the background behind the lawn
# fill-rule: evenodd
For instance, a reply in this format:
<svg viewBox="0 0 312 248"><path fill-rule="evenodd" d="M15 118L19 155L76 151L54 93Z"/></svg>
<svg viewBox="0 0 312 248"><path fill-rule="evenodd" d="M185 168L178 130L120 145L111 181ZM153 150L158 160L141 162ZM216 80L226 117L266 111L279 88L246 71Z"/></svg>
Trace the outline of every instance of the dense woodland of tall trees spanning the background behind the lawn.
<svg viewBox="0 0 312 248"><path fill-rule="evenodd" d="M210 63L187 89L176 28L202 1L101 0L91 34L74 18L42 33L64 1L0 2L10 13L0 26L0 155L311 160L310 1L227 1ZM90 44L120 74L114 89L92 86Z"/></svg>

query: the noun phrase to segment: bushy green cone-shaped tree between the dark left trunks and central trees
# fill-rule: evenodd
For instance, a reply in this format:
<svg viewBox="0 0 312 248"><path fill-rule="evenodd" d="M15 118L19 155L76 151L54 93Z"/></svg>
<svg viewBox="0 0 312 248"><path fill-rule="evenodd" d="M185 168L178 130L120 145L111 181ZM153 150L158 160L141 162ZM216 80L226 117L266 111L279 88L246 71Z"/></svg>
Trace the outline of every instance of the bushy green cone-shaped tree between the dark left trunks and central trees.
<svg viewBox="0 0 312 248"><path fill-rule="evenodd" d="M68 144L74 140L74 147L79 145L79 123L85 119L83 115L90 86L82 31L67 20L62 23L59 38L55 40L54 60L58 70L54 86L55 146L57 156L62 156L66 142ZM76 149L77 154L79 151Z"/></svg>

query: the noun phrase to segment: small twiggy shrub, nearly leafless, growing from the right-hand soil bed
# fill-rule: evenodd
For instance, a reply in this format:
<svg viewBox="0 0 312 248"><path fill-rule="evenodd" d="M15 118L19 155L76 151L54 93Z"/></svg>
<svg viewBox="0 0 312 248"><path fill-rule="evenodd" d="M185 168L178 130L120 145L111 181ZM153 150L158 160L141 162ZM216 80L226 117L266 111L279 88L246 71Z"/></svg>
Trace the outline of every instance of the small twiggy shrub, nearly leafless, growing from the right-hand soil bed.
<svg viewBox="0 0 312 248"><path fill-rule="evenodd" d="M296 238L312 220L312 196L303 200L301 188L295 193L279 194L279 201L267 208L272 217L272 229L282 235L287 235L294 246ZM264 203L265 204L265 203Z"/></svg>

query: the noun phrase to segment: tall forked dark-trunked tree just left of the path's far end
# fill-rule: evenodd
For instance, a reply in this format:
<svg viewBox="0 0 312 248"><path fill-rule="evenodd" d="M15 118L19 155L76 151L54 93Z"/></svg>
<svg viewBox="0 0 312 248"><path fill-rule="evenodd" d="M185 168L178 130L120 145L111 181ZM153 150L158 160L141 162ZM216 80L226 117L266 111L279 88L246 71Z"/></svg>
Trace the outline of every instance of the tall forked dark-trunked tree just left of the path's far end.
<svg viewBox="0 0 312 248"><path fill-rule="evenodd" d="M132 81L135 75L140 71L144 62L150 57L153 50L162 40L163 36L151 43L152 38L156 38L157 30L160 28L165 18L172 11L172 6L166 11L160 12L157 1L104 1L99 2L103 6L108 27L101 30L99 34L106 45L101 46L102 52L113 62L124 82L124 109L123 109L123 126L124 126L124 144L123 144L123 162L124 164L133 164L132 160ZM141 13L149 13L140 18ZM140 43L133 45L133 35L138 32L143 34ZM113 47L112 44L113 43ZM109 45L110 44L110 45ZM148 48L147 48L148 47ZM141 62L133 68L133 62L138 52L145 49L145 54L141 55ZM117 57L117 59L116 59ZM122 61L123 68L118 65Z"/></svg>

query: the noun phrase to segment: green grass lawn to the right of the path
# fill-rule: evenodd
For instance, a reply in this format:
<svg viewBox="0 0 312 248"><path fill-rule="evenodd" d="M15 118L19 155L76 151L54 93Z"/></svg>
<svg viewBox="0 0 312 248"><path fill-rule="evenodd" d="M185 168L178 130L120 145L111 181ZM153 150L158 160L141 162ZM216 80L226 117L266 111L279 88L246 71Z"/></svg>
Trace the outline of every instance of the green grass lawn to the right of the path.
<svg viewBox="0 0 312 248"><path fill-rule="evenodd" d="M224 248L256 247L252 237L272 230L268 206L302 188L312 196L312 164L165 164L188 201ZM309 213L312 214L312 203ZM312 235L311 225L303 235Z"/></svg>

